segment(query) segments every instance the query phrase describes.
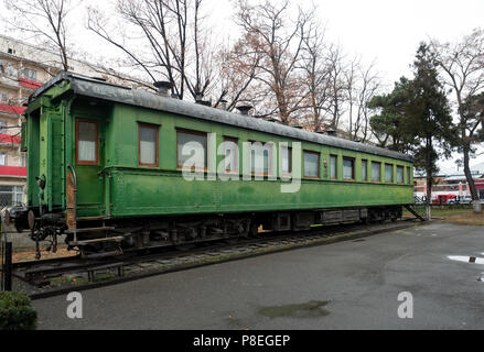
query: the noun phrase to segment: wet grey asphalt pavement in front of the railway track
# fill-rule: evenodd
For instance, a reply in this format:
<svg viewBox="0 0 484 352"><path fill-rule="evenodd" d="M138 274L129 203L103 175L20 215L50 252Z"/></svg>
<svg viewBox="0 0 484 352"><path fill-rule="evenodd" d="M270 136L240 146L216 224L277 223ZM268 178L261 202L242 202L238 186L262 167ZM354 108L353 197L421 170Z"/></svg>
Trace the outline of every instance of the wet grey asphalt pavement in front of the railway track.
<svg viewBox="0 0 484 352"><path fill-rule="evenodd" d="M433 223L364 240L35 300L41 329L484 329L484 228ZM413 296L413 319L397 316Z"/></svg>

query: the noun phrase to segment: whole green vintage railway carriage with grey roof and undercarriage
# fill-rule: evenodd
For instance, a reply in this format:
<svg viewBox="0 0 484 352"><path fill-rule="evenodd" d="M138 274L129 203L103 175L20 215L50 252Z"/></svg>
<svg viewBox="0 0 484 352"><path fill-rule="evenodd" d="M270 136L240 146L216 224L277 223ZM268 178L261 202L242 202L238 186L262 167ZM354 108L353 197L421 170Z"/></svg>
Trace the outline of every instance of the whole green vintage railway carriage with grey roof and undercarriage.
<svg viewBox="0 0 484 352"><path fill-rule="evenodd" d="M396 219L413 202L407 155L166 95L63 73L25 113L28 205L11 218L84 254Z"/></svg>

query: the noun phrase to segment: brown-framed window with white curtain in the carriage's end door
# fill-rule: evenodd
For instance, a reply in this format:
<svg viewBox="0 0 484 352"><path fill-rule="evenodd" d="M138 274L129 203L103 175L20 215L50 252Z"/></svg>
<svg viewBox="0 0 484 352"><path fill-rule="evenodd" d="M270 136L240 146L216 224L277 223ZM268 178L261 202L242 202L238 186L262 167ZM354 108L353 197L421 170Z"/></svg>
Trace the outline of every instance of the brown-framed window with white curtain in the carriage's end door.
<svg viewBox="0 0 484 352"><path fill-rule="evenodd" d="M76 162L79 165L98 164L99 123L95 120L76 119Z"/></svg>

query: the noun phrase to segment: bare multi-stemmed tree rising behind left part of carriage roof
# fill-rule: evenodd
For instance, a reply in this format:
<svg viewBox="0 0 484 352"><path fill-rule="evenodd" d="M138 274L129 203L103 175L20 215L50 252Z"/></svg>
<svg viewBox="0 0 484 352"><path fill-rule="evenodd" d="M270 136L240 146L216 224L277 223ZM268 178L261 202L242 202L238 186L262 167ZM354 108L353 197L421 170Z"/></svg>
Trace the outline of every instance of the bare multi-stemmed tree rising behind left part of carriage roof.
<svg viewBox="0 0 484 352"><path fill-rule="evenodd" d="M90 8L87 28L153 81L169 80L181 99L186 90L195 99L203 97L211 81L203 66L206 40L201 37L201 7L202 0L118 0L115 19Z"/></svg>

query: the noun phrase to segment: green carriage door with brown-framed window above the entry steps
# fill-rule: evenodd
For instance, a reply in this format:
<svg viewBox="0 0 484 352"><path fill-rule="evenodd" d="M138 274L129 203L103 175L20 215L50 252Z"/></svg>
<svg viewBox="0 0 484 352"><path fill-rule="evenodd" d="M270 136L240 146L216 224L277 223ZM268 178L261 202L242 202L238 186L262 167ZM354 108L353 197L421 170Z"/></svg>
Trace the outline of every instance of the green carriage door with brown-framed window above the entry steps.
<svg viewBox="0 0 484 352"><path fill-rule="evenodd" d="M104 216L104 122L76 118L75 132L77 216Z"/></svg>

